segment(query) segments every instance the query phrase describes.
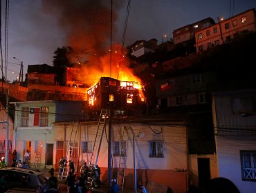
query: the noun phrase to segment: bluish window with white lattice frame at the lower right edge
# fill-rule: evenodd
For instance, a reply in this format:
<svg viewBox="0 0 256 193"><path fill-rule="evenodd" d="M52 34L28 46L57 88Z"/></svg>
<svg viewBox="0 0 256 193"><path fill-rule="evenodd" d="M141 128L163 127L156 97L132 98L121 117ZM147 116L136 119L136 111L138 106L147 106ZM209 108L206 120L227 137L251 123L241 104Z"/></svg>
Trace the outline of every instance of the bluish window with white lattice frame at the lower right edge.
<svg viewBox="0 0 256 193"><path fill-rule="evenodd" d="M240 151L241 178L243 181L256 181L256 151Z"/></svg>

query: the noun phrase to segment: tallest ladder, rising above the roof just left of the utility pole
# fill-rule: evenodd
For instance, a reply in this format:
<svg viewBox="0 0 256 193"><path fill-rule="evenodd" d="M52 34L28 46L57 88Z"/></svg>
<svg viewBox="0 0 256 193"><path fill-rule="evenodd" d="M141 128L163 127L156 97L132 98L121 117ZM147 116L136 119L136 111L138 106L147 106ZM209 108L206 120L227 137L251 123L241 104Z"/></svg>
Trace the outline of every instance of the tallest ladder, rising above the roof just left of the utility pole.
<svg viewBox="0 0 256 193"><path fill-rule="evenodd" d="M100 145L102 142L102 136L104 133L104 128L106 127L106 119L107 119L107 109L102 109L100 112L100 119L98 121L98 129L95 136L95 141L93 143L93 150L91 152L91 159L89 161L89 176L87 179L87 183L89 183L91 186L93 185L93 176L92 173L94 170L94 166L97 165L98 157L100 154Z"/></svg>

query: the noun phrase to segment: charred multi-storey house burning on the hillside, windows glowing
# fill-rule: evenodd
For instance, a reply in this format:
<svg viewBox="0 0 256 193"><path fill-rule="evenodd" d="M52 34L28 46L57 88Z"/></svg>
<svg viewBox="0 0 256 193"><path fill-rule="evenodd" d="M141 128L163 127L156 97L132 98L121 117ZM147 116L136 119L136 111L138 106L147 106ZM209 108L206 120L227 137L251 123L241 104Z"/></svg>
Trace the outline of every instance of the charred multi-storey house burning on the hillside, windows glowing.
<svg viewBox="0 0 256 193"><path fill-rule="evenodd" d="M141 114L145 107L145 98L138 82L110 77L101 77L98 83L89 88L87 99L91 113L111 105L113 116L132 116Z"/></svg>

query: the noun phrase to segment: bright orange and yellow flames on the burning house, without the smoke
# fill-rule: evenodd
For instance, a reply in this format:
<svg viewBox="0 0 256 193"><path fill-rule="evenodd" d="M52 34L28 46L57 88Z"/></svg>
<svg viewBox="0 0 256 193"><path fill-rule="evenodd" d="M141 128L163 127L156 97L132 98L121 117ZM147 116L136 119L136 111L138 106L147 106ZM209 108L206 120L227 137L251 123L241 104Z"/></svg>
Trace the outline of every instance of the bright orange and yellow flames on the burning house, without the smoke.
<svg viewBox="0 0 256 193"><path fill-rule="evenodd" d="M99 87L99 80L102 77L109 77L107 74L111 75L111 77L109 77L111 80L107 86L118 86L118 90L125 90L127 104L133 103L134 97L137 97L140 101L145 101L141 80L136 77L133 70L128 67L129 63L127 59L120 54L120 50L117 51L118 48L120 48L120 45L115 45L114 48L115 52L112 52L111 61L109 54L100 58L103 67L102 72L93 71L95 74L90 73L89 75L89 77L95 79L96 81L87 91L90 105L97 103L98 99L95 90ZM89 72L88 69L85 71L85 73L88 74L87 72ZM113 83L115 81L117 81L117 83ZM138 96L134 96L135 93L138 93Z"/></svg>

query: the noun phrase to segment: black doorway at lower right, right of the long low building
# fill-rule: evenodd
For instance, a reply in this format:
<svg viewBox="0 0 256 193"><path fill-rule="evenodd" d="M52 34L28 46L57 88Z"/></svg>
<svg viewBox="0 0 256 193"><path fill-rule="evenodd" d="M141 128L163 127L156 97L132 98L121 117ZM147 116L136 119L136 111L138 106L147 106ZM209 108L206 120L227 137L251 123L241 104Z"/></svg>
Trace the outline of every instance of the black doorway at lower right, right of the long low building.
<svg viewBox="0 0 256 193"><path fill-rule="evenodd" d="M197 159L199 172L199 187L204 188L210 181L210 159Z"/></svg>

